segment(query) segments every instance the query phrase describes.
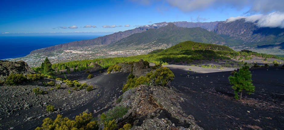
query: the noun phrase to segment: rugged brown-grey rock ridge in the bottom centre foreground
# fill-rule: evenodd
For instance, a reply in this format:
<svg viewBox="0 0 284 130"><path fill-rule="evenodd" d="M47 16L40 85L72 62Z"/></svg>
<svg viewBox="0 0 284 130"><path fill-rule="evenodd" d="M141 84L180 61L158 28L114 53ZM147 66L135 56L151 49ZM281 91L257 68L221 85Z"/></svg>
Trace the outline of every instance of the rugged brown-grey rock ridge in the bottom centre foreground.
<svg viewBox="0 0 284 130"><path fill-rule="evenodd" d="M140 85L126 91L117 104L130 108L118 125L130 123L134 130L202 130L192 115L182 111L179 102L183 101L171 87Z"/></svg>

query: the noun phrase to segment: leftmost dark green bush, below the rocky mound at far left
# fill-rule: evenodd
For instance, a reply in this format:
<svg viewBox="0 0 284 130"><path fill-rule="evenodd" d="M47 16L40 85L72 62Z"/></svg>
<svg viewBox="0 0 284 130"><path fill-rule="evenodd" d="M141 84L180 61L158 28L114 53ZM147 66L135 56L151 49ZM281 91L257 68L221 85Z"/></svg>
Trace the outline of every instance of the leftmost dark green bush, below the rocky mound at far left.
<svg viewBox="0 0 284 130"><path fill-rule="evenodd" d="M23 74L10 74L7 79L5 80L5 84L7 85L17 85L27 81L27 77Z"/></svg>

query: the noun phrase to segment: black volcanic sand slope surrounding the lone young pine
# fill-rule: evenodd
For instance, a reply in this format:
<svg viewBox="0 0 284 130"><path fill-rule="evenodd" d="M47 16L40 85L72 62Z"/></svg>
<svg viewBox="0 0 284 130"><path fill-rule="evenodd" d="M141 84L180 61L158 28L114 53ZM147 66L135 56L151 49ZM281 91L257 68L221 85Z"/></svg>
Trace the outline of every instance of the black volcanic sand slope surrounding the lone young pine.
<svg viewBox="0 0 284 130"><path fill-rule="evenodd" d="M171 86L185 99L182 109L205 130L284 129L284 69L251 70L255 93L244 94L242 100L234 99L231 71L186 77L186 70L171 70L176 76Z"/></svg>

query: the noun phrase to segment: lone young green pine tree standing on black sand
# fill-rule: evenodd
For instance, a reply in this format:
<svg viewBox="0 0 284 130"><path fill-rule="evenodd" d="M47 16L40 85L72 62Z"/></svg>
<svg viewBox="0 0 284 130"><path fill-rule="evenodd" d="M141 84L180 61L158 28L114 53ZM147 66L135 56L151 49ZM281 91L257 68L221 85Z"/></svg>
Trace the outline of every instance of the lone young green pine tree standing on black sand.
<svg viewBox="0 0 284 130"><path fill-rule="evenodd" d="M235 99L239 99L238 93L240 93L240 99L242 99L243 91L245 90L249 95L254 92L254 86L251 83L251 73L247 64L244 64L240 68L239 72L235 72L234 76L229 76L230 84L232 84L232 89L234 89Z"/></svg>

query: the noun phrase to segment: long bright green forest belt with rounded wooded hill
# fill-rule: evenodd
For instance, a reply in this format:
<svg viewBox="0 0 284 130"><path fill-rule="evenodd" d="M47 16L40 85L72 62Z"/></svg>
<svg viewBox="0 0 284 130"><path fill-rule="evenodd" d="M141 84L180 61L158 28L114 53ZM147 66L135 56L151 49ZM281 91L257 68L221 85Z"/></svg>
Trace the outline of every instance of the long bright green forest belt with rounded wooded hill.
<svg viewBox="0 0 284 130"><path fill-rule="evenodd" d="M284 57L278 57L269 54L259 54L249 50L234 51L229 47L215 45L215 44L203 44L192 41L185 41L174 45L165 50L161 50L157 53L137 55L131 57L114 57L94 60L80 60L70 61L66 63L53 64L52 68L60 67L78 67L78 70L86 70L92 66L88 66L90 63L98 63L102 68L107 68L110 73L114 68L119 71L119 67L115 65L122 62L137 62L140 59L147 60L148 62L159 64L167 63L191 63L193 60L225 60L231 59L230 57L252 57L258 56L262 58L276 58L284 60ZM241 58L239 60L242 60ZM112 67L111 67L112 66Z"/></svg>

